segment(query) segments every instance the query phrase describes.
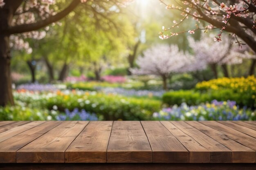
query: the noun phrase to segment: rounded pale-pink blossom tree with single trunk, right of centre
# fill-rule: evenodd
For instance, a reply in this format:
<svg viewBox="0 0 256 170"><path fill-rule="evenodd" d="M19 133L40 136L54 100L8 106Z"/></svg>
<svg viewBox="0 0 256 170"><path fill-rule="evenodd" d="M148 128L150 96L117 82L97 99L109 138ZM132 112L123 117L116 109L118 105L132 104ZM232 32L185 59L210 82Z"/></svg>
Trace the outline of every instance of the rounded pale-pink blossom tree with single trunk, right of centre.
<svg viewBox="0 0 256 170"><path fill-rule="evenodd" d="M177 45L158 44L144 51L144 56L139 56L137 65L139 68L132 68L134 75L157 75L163 80L164 90L167 88L167 79L171 73L178 73L189 64L190 55L179 51Z"/></svg>

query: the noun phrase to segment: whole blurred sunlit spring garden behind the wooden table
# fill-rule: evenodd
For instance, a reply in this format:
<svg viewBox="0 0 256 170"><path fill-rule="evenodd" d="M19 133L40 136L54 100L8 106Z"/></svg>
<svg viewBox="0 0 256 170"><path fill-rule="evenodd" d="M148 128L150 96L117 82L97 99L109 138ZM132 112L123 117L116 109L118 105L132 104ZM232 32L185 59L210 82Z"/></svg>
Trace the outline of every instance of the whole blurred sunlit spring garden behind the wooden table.
<svg viewBox="0 0 256 170"><path fill-rule="evenodd" d="M1 26L1 57L9 49L11 62L0 57L0 120L256 120L256 46L232 22L198 20L186 1L193 16L169 10L178 9L171 0L75 2L26 30L70 2L21 1L10 22L18 27ZM1 16L11 5L0 0ZM255 12L248 18L255 24Z"/></svg>

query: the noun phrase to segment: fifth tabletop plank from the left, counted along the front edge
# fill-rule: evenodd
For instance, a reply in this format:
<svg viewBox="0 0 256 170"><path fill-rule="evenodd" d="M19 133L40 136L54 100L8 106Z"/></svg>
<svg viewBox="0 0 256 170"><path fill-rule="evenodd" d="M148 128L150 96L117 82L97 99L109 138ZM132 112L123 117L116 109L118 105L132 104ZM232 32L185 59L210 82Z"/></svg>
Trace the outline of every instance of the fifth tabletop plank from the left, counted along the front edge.
<svg viewBox="0 0 256 170"><path fill-rule="evenodd" d="M153 163L189 163L189 152L159 121L141 121L153 151Z"/></svg>

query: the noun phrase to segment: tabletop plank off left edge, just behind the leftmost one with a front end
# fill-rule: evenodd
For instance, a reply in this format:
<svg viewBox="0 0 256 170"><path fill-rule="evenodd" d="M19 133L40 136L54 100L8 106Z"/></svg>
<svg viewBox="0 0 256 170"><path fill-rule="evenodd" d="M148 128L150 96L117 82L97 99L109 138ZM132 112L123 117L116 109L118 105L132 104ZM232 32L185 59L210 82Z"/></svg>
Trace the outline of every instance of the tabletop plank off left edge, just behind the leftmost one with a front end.
<svg viewBox="0 0 256 170"><path fill-rule="evenodd" d="M32 121L32 122L29 122L27 124L23 124L21 126L16 126L16 127L11 128L7 131L4 131L4 132L0 133L0 142L4 141L6 139L9 139L10 137L13 137L15 135L18 135L21 132L29 130L29 129L35 127L35 126L43 124L44 122L45 121Z"/></svg>

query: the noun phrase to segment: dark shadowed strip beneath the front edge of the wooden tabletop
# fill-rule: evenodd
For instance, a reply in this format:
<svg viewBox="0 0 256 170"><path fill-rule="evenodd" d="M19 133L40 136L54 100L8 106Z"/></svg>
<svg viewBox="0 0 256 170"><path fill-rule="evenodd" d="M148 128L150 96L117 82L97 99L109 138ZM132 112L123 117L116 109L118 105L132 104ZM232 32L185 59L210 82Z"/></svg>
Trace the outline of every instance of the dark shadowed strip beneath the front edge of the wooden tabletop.
<svg viewBox="0 0 256 170"><path fill-rule="evenodd" d="M255 170L255 163L3 163L1 170Z"/></svg>

